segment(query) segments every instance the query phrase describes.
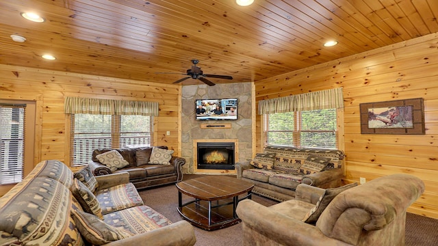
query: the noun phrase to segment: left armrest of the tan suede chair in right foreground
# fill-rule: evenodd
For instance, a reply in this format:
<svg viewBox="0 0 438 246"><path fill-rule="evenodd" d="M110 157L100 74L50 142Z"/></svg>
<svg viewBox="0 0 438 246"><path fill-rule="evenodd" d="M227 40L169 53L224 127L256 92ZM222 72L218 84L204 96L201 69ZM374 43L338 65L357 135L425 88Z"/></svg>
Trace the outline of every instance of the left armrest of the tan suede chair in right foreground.
<svg viewBox="0 0 438 246"><path fill-rule="evenodd" d="M325 236L315 226L292 219L253 200L239 202L236 213L243 223L243 245L263 241L274 241L278 245L290 245L291 242L309 246L348 245Z"/></svg>

